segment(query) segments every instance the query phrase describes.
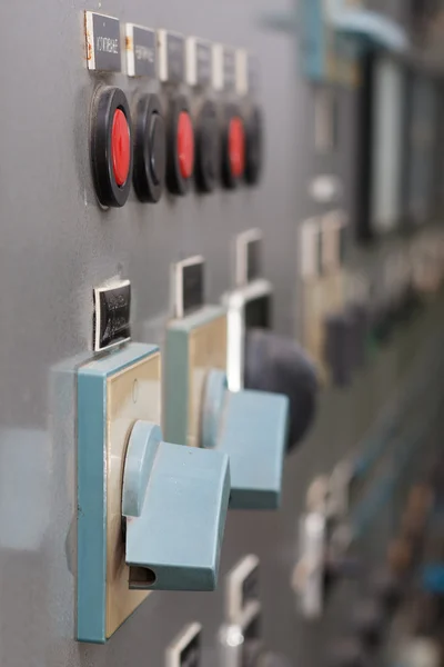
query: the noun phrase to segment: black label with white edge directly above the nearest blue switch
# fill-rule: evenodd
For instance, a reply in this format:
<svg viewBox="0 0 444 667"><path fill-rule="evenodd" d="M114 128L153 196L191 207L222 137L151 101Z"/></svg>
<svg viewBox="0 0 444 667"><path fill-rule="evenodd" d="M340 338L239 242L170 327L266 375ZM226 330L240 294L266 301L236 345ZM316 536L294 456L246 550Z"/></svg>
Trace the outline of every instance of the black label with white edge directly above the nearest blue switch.
<svg viewBox="0 0 444 667"><path fill-rule="evenodd" d="M94 289L94 351L130 340L130 312L131 283L129 280Z"/></svg>

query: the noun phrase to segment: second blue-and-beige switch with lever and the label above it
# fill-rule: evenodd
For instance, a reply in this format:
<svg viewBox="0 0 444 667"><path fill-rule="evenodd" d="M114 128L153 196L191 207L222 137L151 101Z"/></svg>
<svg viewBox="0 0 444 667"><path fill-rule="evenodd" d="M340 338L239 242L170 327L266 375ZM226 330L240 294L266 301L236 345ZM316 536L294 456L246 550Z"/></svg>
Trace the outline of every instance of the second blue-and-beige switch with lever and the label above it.
<svg viewBox="0 0 444 667"><path fill-rule="evenodd" d="M204 262L173 267L174 312L165 341L167 437L230 457L230 506L279 507L287 438L285 396L242 390L226 380L226 311L206 306Z"/></svg>

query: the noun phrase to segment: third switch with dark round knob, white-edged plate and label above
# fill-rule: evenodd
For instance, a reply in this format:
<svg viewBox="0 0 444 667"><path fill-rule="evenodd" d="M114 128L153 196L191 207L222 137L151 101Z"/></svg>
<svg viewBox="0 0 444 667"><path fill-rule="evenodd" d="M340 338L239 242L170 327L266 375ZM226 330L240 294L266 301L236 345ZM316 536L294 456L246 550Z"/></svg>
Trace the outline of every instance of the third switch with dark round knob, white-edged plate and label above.
<svg viewBox="0 0 444 667"><path fill-rule="evenodd" d="M290 401L287 449L297 445L315 414L317 377L291 338L272 331L273 288L262 277L262 232L235 239L235 289L223 296L228 308L228 382L232 391L282 394Z"/></svg>

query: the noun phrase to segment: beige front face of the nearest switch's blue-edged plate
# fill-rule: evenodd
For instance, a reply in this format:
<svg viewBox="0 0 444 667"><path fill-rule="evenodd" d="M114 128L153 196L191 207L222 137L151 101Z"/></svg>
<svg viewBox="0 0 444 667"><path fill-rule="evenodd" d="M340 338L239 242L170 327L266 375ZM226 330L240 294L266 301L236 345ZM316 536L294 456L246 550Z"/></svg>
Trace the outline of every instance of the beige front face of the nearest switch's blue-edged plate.
<svg viewBox="0 0 444 667"><path fill-rule="evenodd" d="M107 379L107 637L149 593L129 589L122 531L122 485L128 440L139 419L160 424L161 359L155 354Z"/></svg>

